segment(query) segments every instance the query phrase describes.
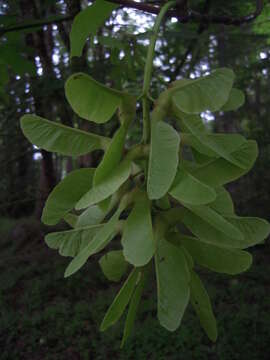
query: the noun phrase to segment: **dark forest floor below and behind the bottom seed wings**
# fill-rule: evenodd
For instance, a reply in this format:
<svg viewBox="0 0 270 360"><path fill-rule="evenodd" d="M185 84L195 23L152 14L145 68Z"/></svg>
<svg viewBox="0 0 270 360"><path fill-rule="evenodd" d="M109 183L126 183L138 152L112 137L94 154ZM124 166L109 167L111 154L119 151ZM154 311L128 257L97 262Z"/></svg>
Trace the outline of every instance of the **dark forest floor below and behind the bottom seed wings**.
<svg viewBox="0 0 270 360"><path fill-rule="evenodd" d="M98 331L118 285L93 258L64 279L69 259L45 243L14 250L0 239L0 359L270 359L270 244L252 250L254 265L241 276L202 273L217 315L219 338L204 335L189 307L174 333L156 319L155 283L141 303L133 336L119 349L123 320Z"/></svg>

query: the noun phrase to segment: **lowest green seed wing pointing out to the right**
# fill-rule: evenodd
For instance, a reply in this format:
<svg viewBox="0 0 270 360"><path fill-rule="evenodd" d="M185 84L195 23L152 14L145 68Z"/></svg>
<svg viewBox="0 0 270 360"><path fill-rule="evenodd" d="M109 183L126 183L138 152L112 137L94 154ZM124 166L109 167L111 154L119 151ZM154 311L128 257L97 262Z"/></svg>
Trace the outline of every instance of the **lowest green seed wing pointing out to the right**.
<svg viewBox="0 0 270 360"><path fill-rule="evenodd" d="M246 251L206 244L190 236L175 236L197 264L212 271L236 275L246 271L252 264L252 256Z"/></svg>

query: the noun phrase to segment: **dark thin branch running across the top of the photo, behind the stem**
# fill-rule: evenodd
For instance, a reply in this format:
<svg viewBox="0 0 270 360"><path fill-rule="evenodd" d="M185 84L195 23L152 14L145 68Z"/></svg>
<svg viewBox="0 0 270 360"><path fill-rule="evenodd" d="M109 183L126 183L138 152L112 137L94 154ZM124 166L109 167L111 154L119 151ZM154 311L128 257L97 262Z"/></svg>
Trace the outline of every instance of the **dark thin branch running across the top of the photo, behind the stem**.
<svg viewBox="0 0 270 360"><path fill-rule="evenodd" d="M133 0L109 0L109 1L114 4L119 4L122 7L137 9L150 14L157 15L160 12L160 6L154 4L139 3ZM263 0L256 0L255 11L246 16L239 16L234 18L231 16L205 15L205 14L200 14L191 9L186 9L186 1L180 0L175 9L171 9L167 12L166 17L167 18L176 17L182 23L193 21L198 23L212 23L212 24L239 26L245 23L249 23L254 19L256 19L261 14L262 10L263 10ZM3 27L2 29L0 29L0 36L3 36L4 34L13 31L27 30L45 25L62 23L64 21L72 21L76 15L77 13L67 16L52 17L51 19L46 19L46 20L33 21L29 24L22 23L13 26Z"/></svg>

